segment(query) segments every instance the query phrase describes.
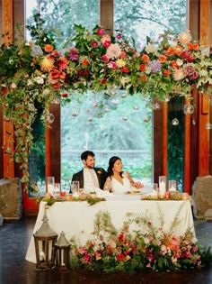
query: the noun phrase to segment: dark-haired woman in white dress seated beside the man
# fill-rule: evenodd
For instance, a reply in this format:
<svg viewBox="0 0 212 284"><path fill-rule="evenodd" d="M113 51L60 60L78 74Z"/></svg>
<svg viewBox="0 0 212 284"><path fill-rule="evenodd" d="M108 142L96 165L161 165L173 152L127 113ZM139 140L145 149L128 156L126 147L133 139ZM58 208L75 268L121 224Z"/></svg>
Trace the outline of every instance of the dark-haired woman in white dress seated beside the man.
<svg viewBox="0 0 212 284"><path fill-rule="evenodd" d="M119 157L113 156L109 160L108 179L106 179L103 190L115 193L124 193L130 188L142 188L140 182L135 182L128 171L122 170L123 165Z"/></svg>

